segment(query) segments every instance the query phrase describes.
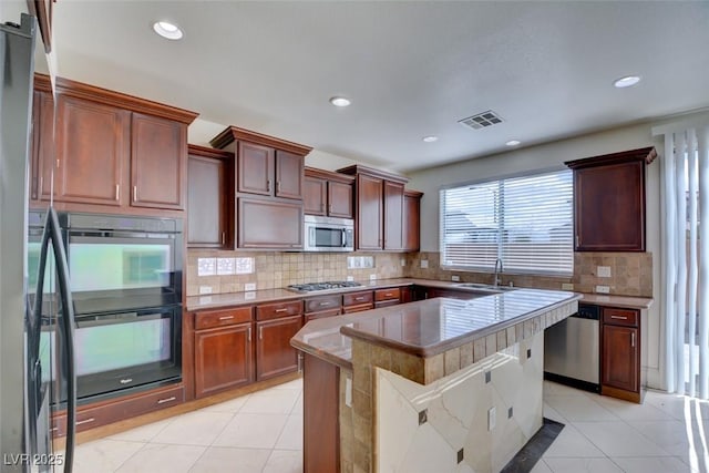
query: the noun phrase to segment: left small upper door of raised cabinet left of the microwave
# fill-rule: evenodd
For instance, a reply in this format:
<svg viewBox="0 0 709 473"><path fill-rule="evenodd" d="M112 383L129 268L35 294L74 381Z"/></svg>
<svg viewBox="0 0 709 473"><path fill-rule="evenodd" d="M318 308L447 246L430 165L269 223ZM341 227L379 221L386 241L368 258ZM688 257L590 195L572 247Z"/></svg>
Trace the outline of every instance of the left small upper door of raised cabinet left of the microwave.
<svg viewBox="0 0 709 473"><path fill-rule="evenodd" d="M240 142L237 147L237 191L273 195L274 148L246 142Z"/></svg>

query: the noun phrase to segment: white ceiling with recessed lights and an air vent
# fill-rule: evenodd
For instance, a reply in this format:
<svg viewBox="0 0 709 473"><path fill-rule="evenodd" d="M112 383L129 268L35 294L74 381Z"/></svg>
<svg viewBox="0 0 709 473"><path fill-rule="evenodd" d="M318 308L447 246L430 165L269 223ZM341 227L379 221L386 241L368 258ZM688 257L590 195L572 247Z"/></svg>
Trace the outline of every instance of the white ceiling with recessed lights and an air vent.
<svg viewBox="0 0 709 473"><path fill-rule="evenodd" d="M709 2L75 1L59 74L399 171L709 106ZM168 19L182 41L151 29ZM618 90L615 79L638 74ZM347 109L332 95L352 100ZM494 110L503 124L458 121ZM438 135L436 143L421 141Z"/></svg>

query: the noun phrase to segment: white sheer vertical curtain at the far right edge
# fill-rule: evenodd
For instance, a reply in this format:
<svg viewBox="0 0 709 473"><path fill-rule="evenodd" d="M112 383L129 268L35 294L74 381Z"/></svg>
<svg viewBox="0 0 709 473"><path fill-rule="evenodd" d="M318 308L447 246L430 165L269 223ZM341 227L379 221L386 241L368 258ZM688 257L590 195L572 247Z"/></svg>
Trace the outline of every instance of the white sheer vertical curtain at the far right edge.
<svg viewBox="0 0 709 473"><path fill-rule="evenodd" d="M662 313L670 392L709 399L709 117L653 128L665 136Z"/></svg>

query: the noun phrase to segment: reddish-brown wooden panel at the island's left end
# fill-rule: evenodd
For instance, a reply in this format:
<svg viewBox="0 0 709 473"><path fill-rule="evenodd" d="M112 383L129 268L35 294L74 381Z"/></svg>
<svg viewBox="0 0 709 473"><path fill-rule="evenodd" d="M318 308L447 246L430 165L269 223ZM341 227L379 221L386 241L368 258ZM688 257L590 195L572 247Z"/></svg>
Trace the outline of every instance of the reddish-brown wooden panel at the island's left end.
<svg viewBox="0 0 709 473"><path fill-rule="evenodd" d="M304 354L302 470L306 473L340 471L340 369Z"/></svg>

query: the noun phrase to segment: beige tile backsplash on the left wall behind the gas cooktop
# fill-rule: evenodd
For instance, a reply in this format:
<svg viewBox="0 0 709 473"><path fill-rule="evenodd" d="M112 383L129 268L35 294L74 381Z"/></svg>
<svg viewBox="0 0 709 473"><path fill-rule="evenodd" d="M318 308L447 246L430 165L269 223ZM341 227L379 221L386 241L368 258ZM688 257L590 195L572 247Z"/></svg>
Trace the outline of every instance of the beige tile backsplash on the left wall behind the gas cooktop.
<svg viewBox="0 0 709 473"><path fill-rule="evenodd" d="M247 288L246 285L256 285L256 289L275 289L291 284L347 280L348 276L359 281L369 280L371 275L377 279L400 278L407 276L407 268L401 265L401 260L405 258L404 254L392 253L189 249L186 273L187 296L251 290L251 287ZM249 266L253 270L245 273Z"/></svg>

